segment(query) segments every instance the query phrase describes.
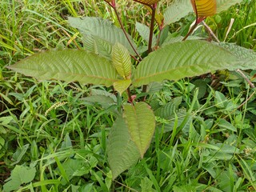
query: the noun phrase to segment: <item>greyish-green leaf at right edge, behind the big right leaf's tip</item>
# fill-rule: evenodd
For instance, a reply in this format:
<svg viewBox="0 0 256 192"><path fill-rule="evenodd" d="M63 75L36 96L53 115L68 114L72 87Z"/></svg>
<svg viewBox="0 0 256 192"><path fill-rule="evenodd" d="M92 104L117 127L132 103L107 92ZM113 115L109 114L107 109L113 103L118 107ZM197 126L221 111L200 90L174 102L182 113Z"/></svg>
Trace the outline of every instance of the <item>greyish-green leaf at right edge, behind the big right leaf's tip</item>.
<svg viewBox="0 0 256 192"><path fill-rule="evenodd" d="M254 50L246 49L242 46L237 46L234 43L215 42L216 45L221 46L225 50L230 51L244 62L238 67L240 70L250 70L256 67L256 52Z"/></svg>

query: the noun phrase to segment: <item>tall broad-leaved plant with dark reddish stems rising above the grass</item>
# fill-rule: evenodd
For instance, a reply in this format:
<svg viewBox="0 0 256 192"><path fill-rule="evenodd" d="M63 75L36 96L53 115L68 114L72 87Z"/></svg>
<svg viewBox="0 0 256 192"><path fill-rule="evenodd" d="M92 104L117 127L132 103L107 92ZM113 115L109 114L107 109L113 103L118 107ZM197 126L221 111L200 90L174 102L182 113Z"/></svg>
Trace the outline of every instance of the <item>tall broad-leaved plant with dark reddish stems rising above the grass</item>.
<svg viewBox="0 0 256 192"><path fill-rule="evenodd" d="M146 47L138 49L125 31L118 16L118 2L106 0L114 9L121 28L102 18L69 18L70 25L82 34L85 50L49 50L8 67L40 80L58 79L114 87L113 94L107 92L85 98L87 102L111 108L116 114L106 147L113 179L143 158L154 136L155 117L164 118L168 110L173 110L168 106L153 110L146 99L147 85L215 70L256 69L254 51L198 38L182 41L203 19L240 0L192 0L192 6L188 0L174 0L164 14L157 11L158 0L136 2L144 4L152 16L150 27L136 23L138 33L147 42ZM173 38L168 25L184 18L193 9L196 21L186 37ZM154 31L155 25L158 31Z"/></svg>

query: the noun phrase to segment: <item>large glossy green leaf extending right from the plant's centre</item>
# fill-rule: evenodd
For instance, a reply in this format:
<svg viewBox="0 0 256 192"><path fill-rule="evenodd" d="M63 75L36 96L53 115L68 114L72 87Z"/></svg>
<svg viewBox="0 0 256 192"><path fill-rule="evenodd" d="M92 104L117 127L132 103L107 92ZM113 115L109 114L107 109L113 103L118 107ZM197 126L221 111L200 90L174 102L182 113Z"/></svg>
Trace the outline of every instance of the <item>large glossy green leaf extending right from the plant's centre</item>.
<svg viewBox="0 0 256 192"><path fill-rule="evenodd" d="M149 54L134 72L134 86L164 79L178 80L214 70L239 68L242 61L210 42L175 42Z"/></svg>

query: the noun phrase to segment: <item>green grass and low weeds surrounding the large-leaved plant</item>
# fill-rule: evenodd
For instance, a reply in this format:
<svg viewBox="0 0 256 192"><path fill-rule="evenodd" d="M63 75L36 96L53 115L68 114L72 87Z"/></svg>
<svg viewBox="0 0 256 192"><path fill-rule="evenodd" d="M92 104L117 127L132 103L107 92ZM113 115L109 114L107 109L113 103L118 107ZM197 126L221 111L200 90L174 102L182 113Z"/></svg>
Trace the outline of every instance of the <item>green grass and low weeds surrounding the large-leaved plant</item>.
<svg viewBox="0 0 256 192"><path fill-rule="evenodd" d="M220 40L255 50L255 3L231 7L219 15L218 24L216 16L207 22ZM120 1L118 10L126 5ZM126 30L134 31L130 24L147 23L148 16L138 4L128 6L122 19ZM81 99L95 90L109 90L38 82L4 68L43 50L81 49L78 32L66 17L90 15L117 22L106 10L106 3L94 0L0 2L0 190L15 171L22 172L20 166L34 179L14 179L13 185L21 186L18 191L256 190L255 96L238 108L254 90L237 74L220 72L156 85L150 106L174 102L177 112L170 119L157 119L145 158L112 182L106 140L114 112ZM234 24L226 36L231 18ZM182 23L176 25L174 31L182 30ZM255 71L248 73L251 77Z"/></svg>

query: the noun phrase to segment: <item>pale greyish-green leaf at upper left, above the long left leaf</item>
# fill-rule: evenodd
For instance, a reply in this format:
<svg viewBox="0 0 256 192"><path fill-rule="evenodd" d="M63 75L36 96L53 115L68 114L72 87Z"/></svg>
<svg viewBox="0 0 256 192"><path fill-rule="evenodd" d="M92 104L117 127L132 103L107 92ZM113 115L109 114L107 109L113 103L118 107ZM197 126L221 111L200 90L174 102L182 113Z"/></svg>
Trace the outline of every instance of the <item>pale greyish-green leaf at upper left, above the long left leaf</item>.
<svg viewBox="0 0 256 192"><path fill-rule="evenodd" d="M112 45L119 42L130 51L130 54L135 54L123 31L114 26L114 24L109 20L94 17L70 17L69 22L71 26L78 28L84 38L87 38L88 35L94 35L110 42ZM128 37L130 38L130 42L132 42L133 46L136 47L129 34Z"/></svg>

